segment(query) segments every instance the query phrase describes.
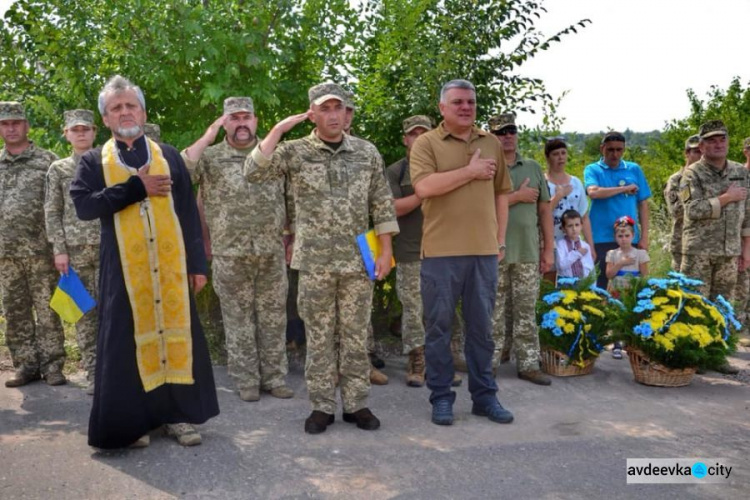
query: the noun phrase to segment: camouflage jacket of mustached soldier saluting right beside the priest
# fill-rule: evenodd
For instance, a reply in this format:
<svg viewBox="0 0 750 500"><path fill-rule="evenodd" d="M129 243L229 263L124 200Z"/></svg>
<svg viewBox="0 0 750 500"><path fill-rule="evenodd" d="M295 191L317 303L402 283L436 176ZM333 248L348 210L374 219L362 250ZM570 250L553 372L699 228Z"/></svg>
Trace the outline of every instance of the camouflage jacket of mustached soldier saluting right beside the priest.
<svg viewBox="0 0 750 500"><path fill-rule="evenodd" d="M251 150L233 148L224 139L206 148L198 162L182 153L192 182L200 186L213 255L283 252L284 181L248 182L243 165Z"/></svg>

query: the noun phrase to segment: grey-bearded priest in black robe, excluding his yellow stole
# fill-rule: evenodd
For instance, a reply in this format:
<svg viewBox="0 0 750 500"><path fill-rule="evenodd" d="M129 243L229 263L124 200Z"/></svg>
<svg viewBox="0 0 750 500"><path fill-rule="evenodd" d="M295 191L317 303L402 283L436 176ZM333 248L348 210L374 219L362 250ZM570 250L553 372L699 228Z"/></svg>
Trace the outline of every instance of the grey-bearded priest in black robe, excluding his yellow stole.
<svg viewBox="0 0 750 500"><path fill-rule="evenodd" d="M192 292L197 293L206 283L207 263L190 177L175 148L149 143L144 136L145 99L138 87L123 77L111 78L99 95L99 111L105 125L112 130L114 141L108 142L110 149L104 150L105 157L116 159L126 173L126 180L117 184L105 180L102 155L107 145L104 145L82 157L70 188L78 217L101 221L99 335L89 445L103 449L146 446L149 432L162 425L180 444L199 444L200 435L190 424L202 424L218 415L219 405L194 296L185 294L189 296L184 301L187 304L189 300L189 313L187 305L183 308L186 321L189 314L185 342L192 344L192 353L187 354L192 359L192 367L187 367L192 380L171 383L166 378L157 386L144 389L143 366L136 356L133 297L126 286L115 224L116 214L129 206L138 204L143 215L143 210L149 209L149 199L171 194L173 213L184 240L186 266L182 266L182 259L177 260L187 273ZM151 172L151 155L157 151L165 174L168 165L168 175ZM156 212L151 217L155 215Z"/></svg>

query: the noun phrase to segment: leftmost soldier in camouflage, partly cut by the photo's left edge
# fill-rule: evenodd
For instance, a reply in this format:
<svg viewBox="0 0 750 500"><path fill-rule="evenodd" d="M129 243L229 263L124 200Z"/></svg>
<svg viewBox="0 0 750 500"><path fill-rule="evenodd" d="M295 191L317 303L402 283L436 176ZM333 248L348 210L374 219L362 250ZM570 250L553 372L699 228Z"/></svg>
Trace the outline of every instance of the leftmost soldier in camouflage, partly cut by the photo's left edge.
<svg viewBox="0 0 750 500"><path fill-rule="evenodd" d="M0 102L0 289L16 369L6 387L40 377L49 385L65 383L65 338L49 307L57 272L44 230L45 176L57 156L36 147L28 132L23 106Z"/></svg>

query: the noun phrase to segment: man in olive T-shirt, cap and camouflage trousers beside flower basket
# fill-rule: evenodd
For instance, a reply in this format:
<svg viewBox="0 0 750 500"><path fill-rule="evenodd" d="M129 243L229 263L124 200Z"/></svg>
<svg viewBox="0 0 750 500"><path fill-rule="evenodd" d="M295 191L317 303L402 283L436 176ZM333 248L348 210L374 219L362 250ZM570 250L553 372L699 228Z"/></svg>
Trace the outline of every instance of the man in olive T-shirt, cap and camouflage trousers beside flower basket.
<svg viewBox="0 0 750 500"><path fill-rule="evenodd" d="M508 195L508 248L505 259L500 261L498 267L498 293L493 317L493 365L497 367L510 342L516 355L518 378L533 384L550 385L550 378L540 370L535 312L541 274L549 271L555 262L549 188L542 167L518 154L515 114L494 116L489 124L490 131L502 144L510 177L516 188ZM541 260L540 229L544 238ZM510 332L508 326L511 326Z"/></svg>

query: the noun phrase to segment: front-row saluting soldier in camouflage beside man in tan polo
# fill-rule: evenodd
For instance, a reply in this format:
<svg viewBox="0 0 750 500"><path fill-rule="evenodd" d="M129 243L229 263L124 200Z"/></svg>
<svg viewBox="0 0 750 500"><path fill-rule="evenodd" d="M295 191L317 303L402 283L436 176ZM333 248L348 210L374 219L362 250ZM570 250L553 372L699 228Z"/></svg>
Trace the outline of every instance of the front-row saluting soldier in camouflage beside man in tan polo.
<svg viewBox="0 0 750 500"><path fill-rule="evenodd" d="M373 284L356 237L367 231L371 217L382 247L376 278L384 279L391 269L391 235L398 233L398 224L377 149L343 133L344 90L326 83L308 94L310 110L276 124L248 157L245 174L251 182L286 176L292 190L296 238L291 266L299 270L298 306L307 330L305 378L313 409L305 432L324 432L334 421L337 361L344 421L374 430L380 421L367 408ZM283 134L308 118L316 125L310 135L277 147Z"/></svg>

